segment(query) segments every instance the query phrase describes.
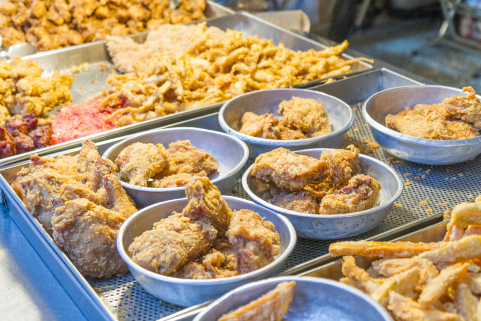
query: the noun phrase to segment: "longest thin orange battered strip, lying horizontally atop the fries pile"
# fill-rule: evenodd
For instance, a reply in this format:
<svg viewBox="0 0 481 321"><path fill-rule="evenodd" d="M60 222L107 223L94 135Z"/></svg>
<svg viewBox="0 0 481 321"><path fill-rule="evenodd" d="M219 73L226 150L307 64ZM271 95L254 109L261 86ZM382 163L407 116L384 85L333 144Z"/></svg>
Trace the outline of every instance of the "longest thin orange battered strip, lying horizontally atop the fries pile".
<svg viewBox="0 0 481 321"><path fill-rule="evenodd" d="M419 253L431 251L445 246L444 242L412 243L412 242L372 242L345 241L332 243L329 255L362 255L386 258L411 257Z"/></svg>

